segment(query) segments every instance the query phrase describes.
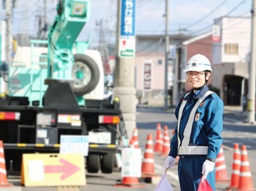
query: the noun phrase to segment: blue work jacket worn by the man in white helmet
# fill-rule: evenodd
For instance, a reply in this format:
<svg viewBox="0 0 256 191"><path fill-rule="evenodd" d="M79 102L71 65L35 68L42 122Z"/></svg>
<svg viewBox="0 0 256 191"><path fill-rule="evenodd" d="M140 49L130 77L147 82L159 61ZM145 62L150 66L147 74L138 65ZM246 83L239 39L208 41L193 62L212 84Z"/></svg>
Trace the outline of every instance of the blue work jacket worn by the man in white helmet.
<svg viewBox="0 0 256 191"><path fill-rule="evenodd" d="M175 109L175 115L178 119L179 109L183 100L187 100L184 107L179 129L180 145L184 138L184 130L189 119L191 110L193 109L197 100L204 96L205 92L209 91L207 86L203 89L196 91L195 95L193 90L185 98L182 97L178 106ZM223 101L215 93L210 94L196 109L195 116L193 116L193 126L190 134L189 145L193 146L208 146L206 158L215 159L219 153L220 146L222 144L221 132L223 129ZM178 138L177 138L177 126L175 128L175 134L170 143L171 157L176 158L178 155Z"/></svg>

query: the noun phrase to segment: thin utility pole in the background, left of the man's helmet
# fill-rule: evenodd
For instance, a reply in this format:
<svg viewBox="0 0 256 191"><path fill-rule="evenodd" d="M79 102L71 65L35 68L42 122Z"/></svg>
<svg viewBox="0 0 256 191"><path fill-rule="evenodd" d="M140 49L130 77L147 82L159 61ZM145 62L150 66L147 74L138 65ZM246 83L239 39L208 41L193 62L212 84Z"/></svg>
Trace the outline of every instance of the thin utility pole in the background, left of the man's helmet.
<svg viewBox="0 0 256 191"><path fill-rule="evenodd" d="M165 78L164 78L164 107L168 108L168 58L169 45L169 0L165 0Z"/></svg>

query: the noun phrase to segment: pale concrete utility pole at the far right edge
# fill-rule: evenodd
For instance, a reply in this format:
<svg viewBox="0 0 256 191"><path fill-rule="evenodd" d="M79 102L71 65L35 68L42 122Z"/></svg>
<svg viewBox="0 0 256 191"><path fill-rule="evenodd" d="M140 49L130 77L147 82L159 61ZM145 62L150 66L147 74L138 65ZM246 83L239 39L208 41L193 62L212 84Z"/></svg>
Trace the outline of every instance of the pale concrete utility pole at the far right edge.
<svg viewBox="0 0 256 191"><path fill-rule="evenodd" d="M256 32L256 18L255 18L255 11L256 11L256 0L253 0L252 5L252 39L251 39L251 48L250 48L250 67L249 67L249 95L248 95L248 123L255 122L255 54L256 54L256 39L255 39L255 32Z"/></svg>

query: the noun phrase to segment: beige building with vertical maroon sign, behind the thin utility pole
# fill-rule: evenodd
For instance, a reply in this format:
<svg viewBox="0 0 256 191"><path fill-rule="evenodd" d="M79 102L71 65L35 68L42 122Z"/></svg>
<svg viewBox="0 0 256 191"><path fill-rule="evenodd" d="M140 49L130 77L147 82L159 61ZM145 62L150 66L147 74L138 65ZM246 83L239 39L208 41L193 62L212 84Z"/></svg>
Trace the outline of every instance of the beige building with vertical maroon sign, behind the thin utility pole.
<svg viewBox="0 0 256 191"><path fill-rule="evenodd" d="M168 61L168 89L173 86L176 45L191 37L182 34L170 36L170 57ZM135 57L135 88L140 103L164 105L165 86L165 36L137 35ZM170 104L170 102L169 102Z"/></svg>

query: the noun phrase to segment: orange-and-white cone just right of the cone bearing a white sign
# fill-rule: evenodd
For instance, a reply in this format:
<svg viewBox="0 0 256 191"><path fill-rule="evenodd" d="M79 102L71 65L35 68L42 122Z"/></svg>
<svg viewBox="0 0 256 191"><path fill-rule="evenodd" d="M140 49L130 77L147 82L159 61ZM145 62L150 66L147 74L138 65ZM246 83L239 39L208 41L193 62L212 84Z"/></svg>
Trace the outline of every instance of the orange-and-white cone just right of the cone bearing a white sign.
<svg viewBox="0 0 256 191"><path fill-rule="evenodd" d="M154 151L152 139L152 134L148 134L144 158L141 165L141 177L154 177L156 175L154 167Z"/></svg>

